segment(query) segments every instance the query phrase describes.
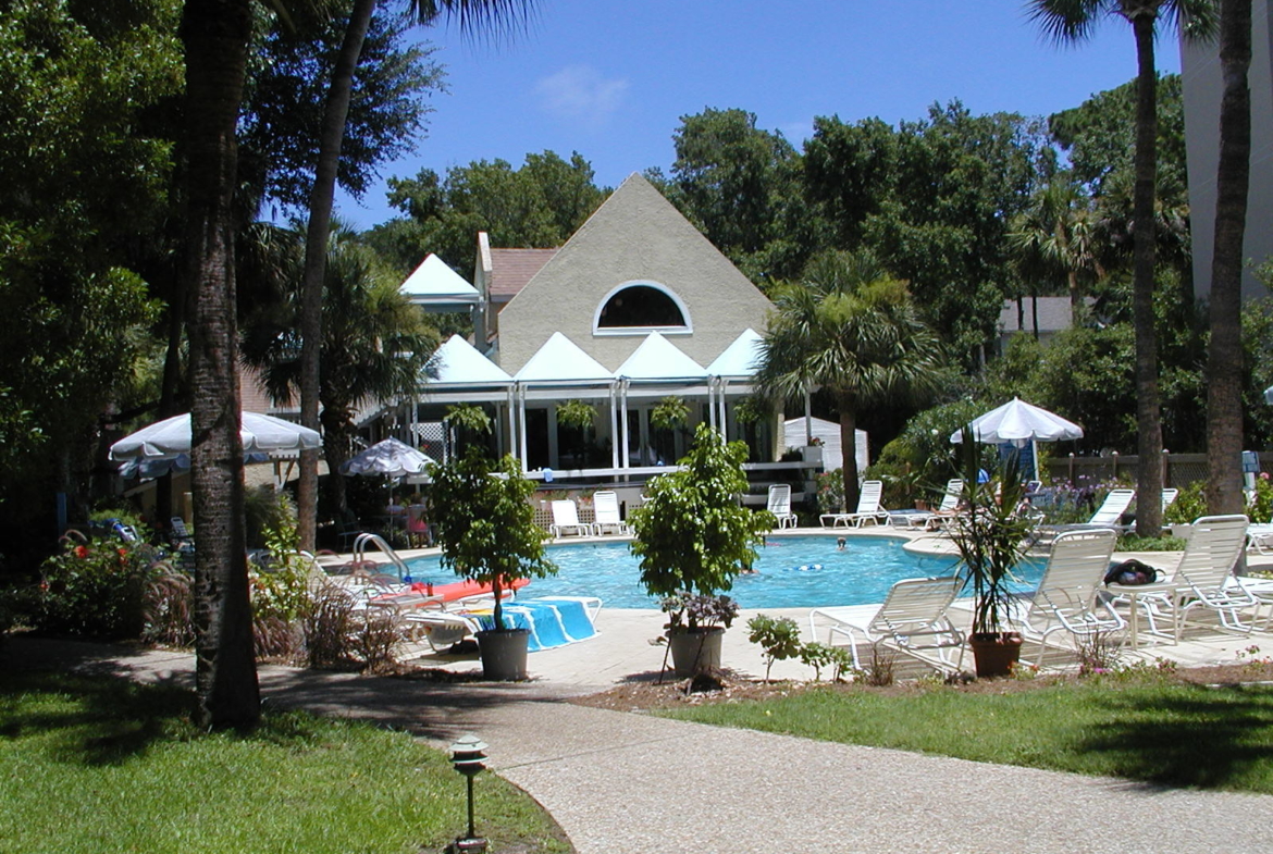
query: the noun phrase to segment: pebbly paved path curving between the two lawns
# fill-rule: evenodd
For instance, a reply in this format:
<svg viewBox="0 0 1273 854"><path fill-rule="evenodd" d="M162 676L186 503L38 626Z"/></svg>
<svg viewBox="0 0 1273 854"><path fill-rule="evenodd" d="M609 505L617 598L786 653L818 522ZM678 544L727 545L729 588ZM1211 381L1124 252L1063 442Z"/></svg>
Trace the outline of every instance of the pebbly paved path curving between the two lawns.
<svg viewBox="0 0 1273 854"><path fill-rule="evenodd" d="M190 655L15 640L8 662L188 680ZM265 667L267 703L444 746L463 732L579 854L1273 851L1273 797L1156 789L572 705L570 685L433 685Z"/></svg>

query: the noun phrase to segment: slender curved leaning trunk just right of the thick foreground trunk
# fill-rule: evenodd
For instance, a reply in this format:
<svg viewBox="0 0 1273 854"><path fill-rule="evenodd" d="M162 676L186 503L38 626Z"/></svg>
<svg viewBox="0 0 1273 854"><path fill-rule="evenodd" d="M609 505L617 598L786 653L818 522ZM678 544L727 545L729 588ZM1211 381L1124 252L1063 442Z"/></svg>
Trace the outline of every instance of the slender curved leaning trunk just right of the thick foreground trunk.
<svg viewBox="0 0 1273 854"><path fill-rule="evenodd" d="M345 141L345 120L354 87L354 69L363 53L367 28L376 0L354 0L345 27L345 38L336 56L323 108L318 137L318 163L309 195L309 225L306 230L306 271L300 300L300 423L318 429L320 356L322 353L322 290L327 272L327 238L331 232L331 206L336 192L336 169ZM331 477L340 477L330 472ZM313 550L318 526L318 452L300 454L300 482L297 493L300 547Z"/></svg>

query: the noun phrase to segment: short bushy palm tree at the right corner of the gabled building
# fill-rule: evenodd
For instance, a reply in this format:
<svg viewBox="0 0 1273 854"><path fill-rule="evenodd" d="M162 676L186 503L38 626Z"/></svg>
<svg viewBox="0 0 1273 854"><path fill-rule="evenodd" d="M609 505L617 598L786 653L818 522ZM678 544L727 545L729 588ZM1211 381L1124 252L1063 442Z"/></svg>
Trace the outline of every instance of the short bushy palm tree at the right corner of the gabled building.
<svg viewBox="0 0 1273 854"><path fill-rule="evenodd" d="M840 415L844 499L858 500L857 414L933 391L942 346L915 312L904 283L867 256L827 252L803 281L778 288L761 344L761 393L777 398L827 389Z"/></svg>

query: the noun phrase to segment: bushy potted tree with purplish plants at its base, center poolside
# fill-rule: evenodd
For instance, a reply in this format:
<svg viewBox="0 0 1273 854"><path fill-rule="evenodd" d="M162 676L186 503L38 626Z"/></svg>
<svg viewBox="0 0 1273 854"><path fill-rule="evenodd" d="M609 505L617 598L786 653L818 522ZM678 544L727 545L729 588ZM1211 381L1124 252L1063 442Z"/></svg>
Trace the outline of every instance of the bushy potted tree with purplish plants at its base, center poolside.
<svg viewBox="0 0 1273 854"><path fill-rule="evenodd" d="M747 489L746 458L746 444L727 444L700 424L681 468L651 481L645 503L629 518L642 584L670 615L667 640L679 677L719 666L712 647L719 650L737 611L722 594L756 560L756 546L774 527L769 512L738 503Z"/></svg>

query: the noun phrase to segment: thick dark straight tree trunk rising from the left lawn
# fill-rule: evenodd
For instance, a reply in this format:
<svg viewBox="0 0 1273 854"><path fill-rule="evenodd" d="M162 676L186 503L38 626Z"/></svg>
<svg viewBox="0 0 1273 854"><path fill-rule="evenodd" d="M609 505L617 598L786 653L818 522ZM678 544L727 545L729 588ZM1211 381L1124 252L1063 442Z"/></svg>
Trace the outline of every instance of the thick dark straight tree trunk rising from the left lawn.
<svg viewBox="0 0 1273 854"><path fill-rule="evenodd" d="M243 532L243 447L234 327L236 122L248 0L187 0L186 141L190 204L183 293L191 295L191 463L196 691L200 727L247 728L261 714Z"/></svg>

